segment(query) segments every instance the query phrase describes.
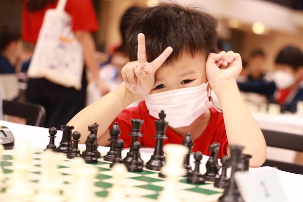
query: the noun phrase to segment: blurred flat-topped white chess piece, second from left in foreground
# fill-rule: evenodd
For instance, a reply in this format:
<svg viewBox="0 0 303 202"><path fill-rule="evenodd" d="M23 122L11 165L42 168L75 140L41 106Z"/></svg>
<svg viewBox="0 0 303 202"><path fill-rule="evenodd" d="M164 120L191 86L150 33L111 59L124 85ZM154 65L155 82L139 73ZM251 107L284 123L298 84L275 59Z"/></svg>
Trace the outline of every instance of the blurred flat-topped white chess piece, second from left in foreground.
<svg viewBox="0 0 303 202"><path fill-rule="evenodd" d="M61 174L58 171L59 163L63 162L63 156L51 150L45 150L42 154L42 172L39 181L38 194L35 202L61 202L62 187Z"/></svg>

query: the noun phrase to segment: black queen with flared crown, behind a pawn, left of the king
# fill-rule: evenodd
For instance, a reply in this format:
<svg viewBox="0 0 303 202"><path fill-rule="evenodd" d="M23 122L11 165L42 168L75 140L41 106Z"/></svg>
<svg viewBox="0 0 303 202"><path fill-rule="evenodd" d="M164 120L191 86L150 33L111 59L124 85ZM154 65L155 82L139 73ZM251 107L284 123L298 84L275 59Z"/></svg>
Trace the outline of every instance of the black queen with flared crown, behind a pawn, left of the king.
<svg viewBox="0 0 303 202"><path fill-rule="evenodd" d="M133 143L135 141L138 141L139 137L142 137L142 133L140 132L141 130L141 125L144 122L144 120L141 119L131 119L131 132L128 134L130 136L132 136L132 141L131 141L131 145L130 145L130 149L126 155L126 157L123 159L123 163L125 165L127 165L129 162L131 162L132 158L133 158ZM138 161L140 162L140 164L143 165L143 160L141 159L140 154L138 154Z"/></svg>

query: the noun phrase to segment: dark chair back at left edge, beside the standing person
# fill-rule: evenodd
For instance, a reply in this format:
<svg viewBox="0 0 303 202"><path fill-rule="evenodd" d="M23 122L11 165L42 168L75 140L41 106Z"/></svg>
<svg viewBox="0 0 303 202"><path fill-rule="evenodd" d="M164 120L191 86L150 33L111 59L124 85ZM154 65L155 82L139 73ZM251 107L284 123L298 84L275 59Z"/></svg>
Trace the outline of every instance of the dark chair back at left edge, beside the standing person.
<svg viewBox="0 0 303 202"><path fill-rule="evenodd" d="M27 125L43 126L45 109L41 105L3 100L3 114L26 119Z"/></svg>

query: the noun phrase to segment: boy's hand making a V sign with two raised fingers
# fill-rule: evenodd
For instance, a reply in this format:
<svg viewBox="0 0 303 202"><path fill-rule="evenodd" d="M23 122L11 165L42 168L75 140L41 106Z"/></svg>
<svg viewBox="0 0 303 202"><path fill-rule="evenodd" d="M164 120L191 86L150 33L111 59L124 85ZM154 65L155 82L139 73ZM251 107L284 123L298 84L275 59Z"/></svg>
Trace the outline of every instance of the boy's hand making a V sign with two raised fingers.
<svg viewBox="0 0 303 202"><path fill-rule="evenodd" d="M153 62L146 59L145 36L138 34L138 61L127 63L121 73L126 88L134 95L145 96L150 92L155 83L155 72L173 52L172 47L165 51Z"/></svg>

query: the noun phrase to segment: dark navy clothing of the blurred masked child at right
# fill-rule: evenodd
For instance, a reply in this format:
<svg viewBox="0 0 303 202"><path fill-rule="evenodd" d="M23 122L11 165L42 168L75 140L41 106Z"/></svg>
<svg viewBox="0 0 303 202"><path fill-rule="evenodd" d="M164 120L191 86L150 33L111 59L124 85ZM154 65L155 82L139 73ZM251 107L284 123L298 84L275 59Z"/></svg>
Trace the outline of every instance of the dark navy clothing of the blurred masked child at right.
<svg viewBox="0 0 303 202"><path fill-rule="evenodd" d="M276 84L266 80L248 80L246 82L237 82L238 87L243 92L255 92L263 94L267 97L269 103L277 103L275 92L277 91ZM291 97L290 97L291 96ZM286 98L285 103L281 105L281 111L296 112L296 105L298 101L303 101L303 86L298 85L295 92L290 93Z"/></svg>

